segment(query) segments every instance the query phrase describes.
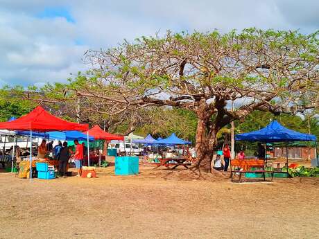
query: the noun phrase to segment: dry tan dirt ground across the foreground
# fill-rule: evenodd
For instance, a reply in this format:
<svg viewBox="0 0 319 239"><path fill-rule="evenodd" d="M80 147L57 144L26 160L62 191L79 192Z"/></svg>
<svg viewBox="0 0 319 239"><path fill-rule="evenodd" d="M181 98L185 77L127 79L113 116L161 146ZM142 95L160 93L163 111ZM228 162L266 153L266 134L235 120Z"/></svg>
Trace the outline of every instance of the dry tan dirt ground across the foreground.
<svg viewBox="0 0 319 239"><path fill-rule="evenodd" d="M319 178L234 184L140 171L32 183L0 172L0 238L318 238Z"/></svg>

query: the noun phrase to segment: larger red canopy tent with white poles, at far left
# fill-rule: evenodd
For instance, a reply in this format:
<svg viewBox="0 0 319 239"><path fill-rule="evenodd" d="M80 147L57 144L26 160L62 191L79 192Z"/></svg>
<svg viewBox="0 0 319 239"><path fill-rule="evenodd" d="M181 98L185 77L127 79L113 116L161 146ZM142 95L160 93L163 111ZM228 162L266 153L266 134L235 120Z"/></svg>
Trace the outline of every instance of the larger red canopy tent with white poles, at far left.
<svg viewBox="0 0 319 239"><path fill-rule="evenodd" d="M46 112L42 107L38 106L32 112L25 116L21 116L14 121L0 123L1 130L30 130L30 166L32 165L32 132L49 132L49 131L69 131L78 130L85 131L89 129L89 125L81 125L64 121L62 118L55 117ZM87 134L87 141L89 135ZM87 149L89 151L89 148ZM32 180L32 167L30 167L30 179Z"/></svg>

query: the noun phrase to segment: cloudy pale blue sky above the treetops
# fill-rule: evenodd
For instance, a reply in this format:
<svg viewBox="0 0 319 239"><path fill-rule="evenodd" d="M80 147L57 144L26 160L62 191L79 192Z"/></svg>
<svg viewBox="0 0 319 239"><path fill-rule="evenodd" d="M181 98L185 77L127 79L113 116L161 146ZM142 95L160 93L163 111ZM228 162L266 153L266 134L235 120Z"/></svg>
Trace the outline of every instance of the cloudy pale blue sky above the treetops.
<svg viewBox="0 0 319 239"><path fill-rule="evenodd" d="M0 0L0 86L64 82L87 49L170 29L319 29L319 1Z"/></svg>

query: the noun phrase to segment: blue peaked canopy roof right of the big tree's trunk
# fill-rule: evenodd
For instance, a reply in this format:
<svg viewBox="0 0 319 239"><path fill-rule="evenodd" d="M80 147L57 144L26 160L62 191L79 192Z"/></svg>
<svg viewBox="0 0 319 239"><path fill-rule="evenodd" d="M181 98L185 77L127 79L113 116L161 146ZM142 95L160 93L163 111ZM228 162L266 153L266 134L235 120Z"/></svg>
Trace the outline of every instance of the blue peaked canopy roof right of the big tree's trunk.
<svg viewBox="0 0 319 239"><path fill-rule="evenodd" d="M282 142L282 141L316 141L312 134L302 134L289 130L277 121L271 122L261 130L236 134L236 141L261 141L261 142Z"/></svg>

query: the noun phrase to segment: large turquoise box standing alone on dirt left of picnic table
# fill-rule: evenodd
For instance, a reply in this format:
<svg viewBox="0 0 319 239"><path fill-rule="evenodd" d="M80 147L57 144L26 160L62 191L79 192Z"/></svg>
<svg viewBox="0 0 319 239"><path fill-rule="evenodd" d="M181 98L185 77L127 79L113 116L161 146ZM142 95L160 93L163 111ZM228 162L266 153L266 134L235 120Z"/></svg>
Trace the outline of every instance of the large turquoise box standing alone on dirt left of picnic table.
<svg viewBox="0 0 319 239"><path fill-rule="evenodd" d="M115 157L115 175L139 174L139 157Z"/></svg>

